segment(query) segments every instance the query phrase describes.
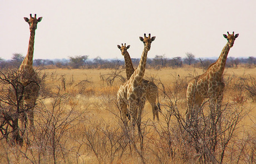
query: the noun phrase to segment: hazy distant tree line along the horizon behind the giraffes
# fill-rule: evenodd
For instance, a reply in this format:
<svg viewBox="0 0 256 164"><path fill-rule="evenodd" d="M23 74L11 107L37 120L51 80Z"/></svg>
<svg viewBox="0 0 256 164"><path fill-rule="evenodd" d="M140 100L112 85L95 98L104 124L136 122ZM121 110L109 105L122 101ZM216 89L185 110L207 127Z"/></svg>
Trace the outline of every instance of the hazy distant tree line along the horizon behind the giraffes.
<svg viewBox="0 0 256 164"><path fill-rule="evenodd" d="M186 53L185 58L174 57L166 58L165 54L155 55L155 58L147 58L147 68L180 68L185 65L194 66L196 68L207 69L208 66L215 62L216 59L209 58L195 58L192 53ZM3 68L18 68L24 59L21 54L13 54L11 60L3 60L0 58L0 69ZM139 65L140 59L132 58L134 67ZM254 68L256 66L256 58L234 58L228 57L226 66L237 68L239 64L243 64L248 68ZM75 57L68 57L68 59L35 59L33 65L42 69L50 68L68 68L68 69L107 69L107 68L119 68L124 67L124 60L120 59L101 59L99 56L94 59L88 59L88 55L76 55Z"/></svg>

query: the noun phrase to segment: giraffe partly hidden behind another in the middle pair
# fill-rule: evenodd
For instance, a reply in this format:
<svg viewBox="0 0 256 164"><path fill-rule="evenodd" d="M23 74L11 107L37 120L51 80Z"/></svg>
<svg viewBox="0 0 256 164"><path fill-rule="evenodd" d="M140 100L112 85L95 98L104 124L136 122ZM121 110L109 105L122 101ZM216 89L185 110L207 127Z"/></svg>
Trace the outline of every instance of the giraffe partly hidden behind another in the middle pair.
<svg viewBox="0 0 256 164"><path fill-rule="evenodd" d="M127 80L130 79L131 75L134 73L134 66L132 65L131 57L129 53L127 52L127 49L130 48L130 45L125 45L121 44L117 45L117 48L121 50L121 54L125 58L125 71L126 71L126 76ZM151 107L152 107L152 112L153 112L153 120L155 120L155 116L157 118L157 121L159 121L159 115L158 115L158 110L160 110L160 107L156 106L156 98L158 97L158 88L155 85L153 81L149 80L142 80L142 88L145 89L146 91L146 99L149 101ZM158 105L159 106L159 105Z"/></svg>

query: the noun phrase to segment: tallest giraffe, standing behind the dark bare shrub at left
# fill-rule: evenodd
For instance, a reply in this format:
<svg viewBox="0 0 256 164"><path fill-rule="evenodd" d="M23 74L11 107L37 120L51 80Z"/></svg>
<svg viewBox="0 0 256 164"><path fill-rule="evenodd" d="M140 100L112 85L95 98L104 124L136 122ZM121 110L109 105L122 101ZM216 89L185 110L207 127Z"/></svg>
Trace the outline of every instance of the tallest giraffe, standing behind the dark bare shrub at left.
<svg viewBox="0 0 256 164"><path fill-rule="evenodd" d="M24 17L24 20L29 24L30 37L28 44L27 55L19 66L18 71L22 74L21 83L24 86L24 94L23 100L26 102L26 106L28 109L28 119L31 127L34 127L34 106L36 104L36 100L38 98L38 93L40 86L38 85L38 76L33 69L33 52L34 52L34 43L35 43L35 31L37 29L37 23L41 22L42 17L36 18L32 17L30 14L30 18ZM24 115L22 116L22 124L24 124Z"/></svg>

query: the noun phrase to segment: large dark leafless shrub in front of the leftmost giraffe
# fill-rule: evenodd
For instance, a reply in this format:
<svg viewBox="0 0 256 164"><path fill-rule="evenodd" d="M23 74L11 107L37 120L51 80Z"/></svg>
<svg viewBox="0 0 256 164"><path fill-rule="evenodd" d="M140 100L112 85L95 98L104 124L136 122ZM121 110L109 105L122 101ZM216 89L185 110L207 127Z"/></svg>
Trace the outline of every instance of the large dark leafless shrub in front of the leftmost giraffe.
<svg viewBox="0 0 256 164"><path fill-rule="evenodd" d="M33 112L37 103L36 100L35 102L31 100L32 103L28 103L24 99L26 96L27 98L37 96L37 93L35 95L32 90L39 90L40 85L43 84L43 78L38 77L39 73L36 71L35 73L14 69L0 71L1 139L9 141L9 138L11 138L11 144L23 144L24 132L27 129L27 117L31 111ZM26 79L26 81L23 79Z"/></svg>

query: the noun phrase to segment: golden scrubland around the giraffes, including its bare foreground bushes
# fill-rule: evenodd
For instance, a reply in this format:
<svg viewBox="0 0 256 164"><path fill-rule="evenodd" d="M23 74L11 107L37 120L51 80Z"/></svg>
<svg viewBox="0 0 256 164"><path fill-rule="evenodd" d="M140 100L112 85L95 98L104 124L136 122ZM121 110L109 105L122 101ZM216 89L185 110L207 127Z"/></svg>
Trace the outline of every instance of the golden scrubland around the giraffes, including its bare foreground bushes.
<svg viewBox="0 0 256 164"><path fill-rule="evenodd" d="M36 128L27 130L23 147L1 140L0 163L255 163L256 103L241 78L256 78L256 68L225 69L223 132L214 139L206 134L210 127L204 129L208 101L197 131L185 130L183 120L186 85L203 71L146 69L145 79L159 86L160 121L152 121L146 101L142 132L132 134L116 105L124 69L40 70L47 76L36 106Z"/></svg>

